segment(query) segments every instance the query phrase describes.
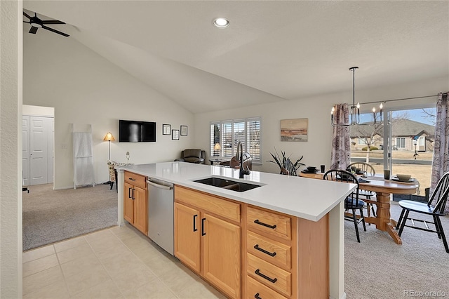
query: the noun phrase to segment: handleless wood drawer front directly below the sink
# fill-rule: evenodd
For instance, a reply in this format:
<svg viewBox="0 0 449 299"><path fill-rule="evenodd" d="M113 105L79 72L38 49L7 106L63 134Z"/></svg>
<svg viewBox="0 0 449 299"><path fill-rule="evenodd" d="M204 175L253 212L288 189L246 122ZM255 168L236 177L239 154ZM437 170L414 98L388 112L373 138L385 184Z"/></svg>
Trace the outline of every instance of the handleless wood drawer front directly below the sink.
<svg viewBox="0 0 449 299"><path fill-rule="evenodd" d="M235 202L177 185L175 186L175 200L240 222L240 204Z"/></svg>

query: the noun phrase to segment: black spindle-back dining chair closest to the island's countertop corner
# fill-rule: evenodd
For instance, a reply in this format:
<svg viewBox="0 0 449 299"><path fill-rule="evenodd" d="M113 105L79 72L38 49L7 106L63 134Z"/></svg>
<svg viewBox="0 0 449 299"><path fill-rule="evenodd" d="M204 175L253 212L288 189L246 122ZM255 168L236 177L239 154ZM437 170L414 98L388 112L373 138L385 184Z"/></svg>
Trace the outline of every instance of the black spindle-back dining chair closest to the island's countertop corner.
<svg viewBox="0 0 449 299"><path fill-rule="evenodd" d="M347 220L351 220L354 222L354 226L356 228L356 236L357 241L360 243L360 236L358 235L358 223L362 222L363 230L366 232L365 218L363 218L363 206L365 206L365 201L358 198L359 194L359 185L358 180L355 175L350 173L349 171L344 171L342 169L331 169L330 171L326 171L323 175L323 180L334 180L337 182L351 182L357 185L356 190L351 192L344 199L344 218ZM346 211L351 210L352 215L347 215ZM360 217L357 217L356 210L360 211Z"/></svg>

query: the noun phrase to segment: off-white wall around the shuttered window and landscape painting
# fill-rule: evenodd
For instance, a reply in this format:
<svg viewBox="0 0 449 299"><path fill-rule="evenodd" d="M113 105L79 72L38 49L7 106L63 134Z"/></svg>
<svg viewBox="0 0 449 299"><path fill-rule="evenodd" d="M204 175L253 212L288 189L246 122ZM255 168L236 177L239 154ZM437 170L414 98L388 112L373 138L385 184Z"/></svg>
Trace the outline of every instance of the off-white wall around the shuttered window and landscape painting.
<svg viewBox="0 0 449 299"><path fill-rule="evenodd" d="M436 95L438 92L449 91L449 78L436 78L429 81L414 82L401 86L380 86L379 88L357 91L356 102L373 102L398 98L412 98L424 95ZM253 165L257 171L279 173L276 164L266 162L272 160L269 152L274 148L280 153L285 151L291 154L292 160L299 159L307 166L325 164L330 167L330 146L332 142L333 127L330 125L330 108L335 103L352 102L352 91L331 95L320 95L314 98L303 98L300 100L286 100L274 104L254 105L244 108L226 109L220 112L210 112L195 115L195 144L199 147L209 149L210 145L210 121L225 119L239 119L243 117L262 117L262 166ZM406 100L387 102L386 109L394 107L415 107L419 104L431 104L436 102L436 97L419 100ZM363 105L363 112L370 112L373 104ZM309 135L307 142L281 142L280 121L281 119L309 119Z"/></svg>

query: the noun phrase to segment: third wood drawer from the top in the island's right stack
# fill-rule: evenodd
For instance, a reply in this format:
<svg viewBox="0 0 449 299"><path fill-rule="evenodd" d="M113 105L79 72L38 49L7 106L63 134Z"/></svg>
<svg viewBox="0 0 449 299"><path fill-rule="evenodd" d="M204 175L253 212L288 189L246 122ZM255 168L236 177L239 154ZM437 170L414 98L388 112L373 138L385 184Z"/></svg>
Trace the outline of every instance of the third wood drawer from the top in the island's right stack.
<svg viewBox="0 0 449 299"><path fill-rule="evenodd" d="M292 294L292 274L264 260L246 253L248 274L269 288L290 297Z"/></svg>

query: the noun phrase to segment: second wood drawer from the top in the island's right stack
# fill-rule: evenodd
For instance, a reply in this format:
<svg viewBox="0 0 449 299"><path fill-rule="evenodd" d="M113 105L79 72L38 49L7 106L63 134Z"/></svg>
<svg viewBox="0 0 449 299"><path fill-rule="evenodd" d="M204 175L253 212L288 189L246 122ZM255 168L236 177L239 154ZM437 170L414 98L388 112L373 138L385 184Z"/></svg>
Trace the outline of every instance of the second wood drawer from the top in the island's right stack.
<svg viewBox="0 0 449 299"><path fill-rule="evenodd" d="M246 246L246 250L258 258L267 260L267 262L286 270L291 269L290 246L249 231L246 234Z"/></svg>

